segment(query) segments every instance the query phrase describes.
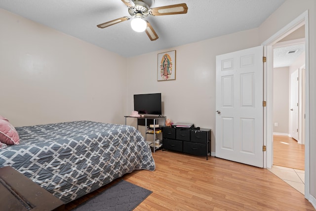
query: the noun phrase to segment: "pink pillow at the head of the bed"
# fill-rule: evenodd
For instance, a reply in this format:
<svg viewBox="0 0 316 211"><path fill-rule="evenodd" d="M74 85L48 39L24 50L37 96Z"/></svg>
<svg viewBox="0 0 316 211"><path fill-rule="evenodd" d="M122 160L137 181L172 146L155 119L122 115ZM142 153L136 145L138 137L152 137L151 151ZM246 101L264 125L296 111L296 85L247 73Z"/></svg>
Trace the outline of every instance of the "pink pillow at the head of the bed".
<svg viewBox="0 0 316 211"><path fill-rule="evenodd" d="M20 143L18 132L9 121L0 116L0 142L7 145Z"/></svg>

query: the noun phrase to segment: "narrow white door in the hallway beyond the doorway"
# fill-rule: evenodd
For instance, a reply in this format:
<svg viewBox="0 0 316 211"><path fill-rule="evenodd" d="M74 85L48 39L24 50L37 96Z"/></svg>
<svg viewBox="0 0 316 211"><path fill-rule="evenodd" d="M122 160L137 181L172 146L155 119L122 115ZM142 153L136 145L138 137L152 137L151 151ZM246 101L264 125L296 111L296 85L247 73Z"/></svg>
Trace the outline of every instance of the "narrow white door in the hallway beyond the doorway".
<svg viewBox="0 0 316 211"><path fill-rule="evenodd" d="M290 135L298 140L298 70L291 74Z"/></svg>

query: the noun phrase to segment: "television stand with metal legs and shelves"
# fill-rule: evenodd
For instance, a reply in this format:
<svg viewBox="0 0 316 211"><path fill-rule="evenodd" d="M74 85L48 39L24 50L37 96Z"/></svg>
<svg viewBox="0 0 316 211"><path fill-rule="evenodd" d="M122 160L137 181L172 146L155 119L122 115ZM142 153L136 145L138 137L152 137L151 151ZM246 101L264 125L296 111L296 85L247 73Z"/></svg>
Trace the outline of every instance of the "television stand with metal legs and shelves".
<svg viewBox="0 0 316 211"><path fill-rule="evenodd" d="M137 130L138 130L138 126L139 126L138 120L143 120L145 122L145 124L143 125L143 126L145 126L145 140L150 145L150 147L154 151L154 153L156 152L157 149L162 147L162 137L160 140L161 144L156 143L156 140L158 138L158 135L162 134L162 127L165 127L166 117L161 116L161 115L159 115L159 116L145 115L144 117L130 117L130 116L124 116L124 117L125 117L125 125L126 125L127 118L137 118ZM163 124L159 124L159 122L161 123L161 121L163 121ZM153 124L150 124L149 122L151 122ZM153 125L154 127L150 127L150 125ZM159 127L156 127L156 125L159 125ZM154 135L153 141L147 140L147 134Z"/></svg>

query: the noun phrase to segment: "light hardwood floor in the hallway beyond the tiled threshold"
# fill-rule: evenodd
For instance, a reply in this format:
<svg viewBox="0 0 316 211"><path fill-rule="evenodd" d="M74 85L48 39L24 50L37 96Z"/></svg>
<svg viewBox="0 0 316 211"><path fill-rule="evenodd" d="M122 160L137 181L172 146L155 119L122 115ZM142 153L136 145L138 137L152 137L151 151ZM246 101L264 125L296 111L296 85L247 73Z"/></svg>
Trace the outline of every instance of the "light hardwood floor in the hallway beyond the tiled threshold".
<svg viewBox="0 0 316 211"><path fill-rule="evenodd" d="M273 136L273 165L305 170L305 145L286 135Z"/></svg>

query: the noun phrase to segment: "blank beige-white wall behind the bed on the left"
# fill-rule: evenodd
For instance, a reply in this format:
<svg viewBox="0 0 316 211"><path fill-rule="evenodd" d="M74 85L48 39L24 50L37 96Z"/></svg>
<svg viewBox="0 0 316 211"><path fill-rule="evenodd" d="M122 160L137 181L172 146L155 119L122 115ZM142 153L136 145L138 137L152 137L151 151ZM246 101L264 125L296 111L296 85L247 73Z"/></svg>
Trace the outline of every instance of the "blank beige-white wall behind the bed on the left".
<svg viewBox="0 0 316 211"><path fill-rule="evenodd" d="M15 126L123 123L125 59L0 9L0 115Z"/></svg>

